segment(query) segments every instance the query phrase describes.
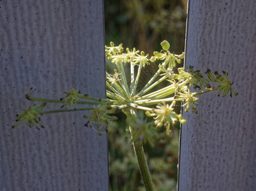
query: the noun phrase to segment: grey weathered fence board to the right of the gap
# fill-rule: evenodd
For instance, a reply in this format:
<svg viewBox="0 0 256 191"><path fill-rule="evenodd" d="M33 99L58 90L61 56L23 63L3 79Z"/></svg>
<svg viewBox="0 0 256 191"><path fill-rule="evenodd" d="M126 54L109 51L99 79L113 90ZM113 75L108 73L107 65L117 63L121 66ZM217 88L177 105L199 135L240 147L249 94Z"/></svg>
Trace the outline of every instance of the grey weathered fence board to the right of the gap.
<svg viewBox="0 0 256 191"><path fill-rule="evenodd" d="M189 1L186 67L227 71L236 97L184 113L178 190L256 190L256 1Z"/></svg>

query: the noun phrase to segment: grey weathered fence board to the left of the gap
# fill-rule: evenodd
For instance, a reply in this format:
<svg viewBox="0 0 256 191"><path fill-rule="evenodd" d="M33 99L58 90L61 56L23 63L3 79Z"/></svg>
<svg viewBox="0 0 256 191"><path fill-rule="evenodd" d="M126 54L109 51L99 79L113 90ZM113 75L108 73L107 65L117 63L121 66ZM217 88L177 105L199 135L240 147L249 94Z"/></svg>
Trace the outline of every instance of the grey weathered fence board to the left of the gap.
<svg viewBox="0 0 256 191"><path fill-rule="evenodd" d="M84 127L84 112L11 129L31 87L105 97L104 44L102 0L0 1L0 190L109 190L107 134Z"/></svg>

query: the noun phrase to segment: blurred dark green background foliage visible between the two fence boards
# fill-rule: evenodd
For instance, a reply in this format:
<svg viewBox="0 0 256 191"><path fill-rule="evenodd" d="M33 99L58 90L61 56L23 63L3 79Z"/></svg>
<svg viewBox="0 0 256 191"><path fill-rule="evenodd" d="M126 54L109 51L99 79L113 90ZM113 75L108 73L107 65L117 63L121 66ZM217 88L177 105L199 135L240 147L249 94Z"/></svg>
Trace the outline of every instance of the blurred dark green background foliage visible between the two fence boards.
<svg viewBox="0 0 256 191"><path fill-rule="evenodd" d="M106 44L123 43L124 48L135 47L153 55L154 51L161 50L160 43L166 39L172 52L184 52L186 3L187 0L105 0ZM111 63L106 63L112 73ZM149 80L154 67L144 69L144 81ZM120 118L118 123L109 125L110 190L145 190L125 118ZM176 190L179 124L170 136L160 134L154 146L144 148L155 190Z"/></svg>

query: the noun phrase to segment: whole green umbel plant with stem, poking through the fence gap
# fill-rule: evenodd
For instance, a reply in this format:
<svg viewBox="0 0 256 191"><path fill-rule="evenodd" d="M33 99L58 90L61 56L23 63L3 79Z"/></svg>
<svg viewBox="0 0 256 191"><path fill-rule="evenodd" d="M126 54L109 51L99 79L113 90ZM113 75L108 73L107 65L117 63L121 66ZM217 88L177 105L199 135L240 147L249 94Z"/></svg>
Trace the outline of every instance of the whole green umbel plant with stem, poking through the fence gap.
<svg viewBox="0 0 256 191"><path fill-rule="evenodd" d="M200 71L185 70L183 67L176 68L181 64L184 53L177 55L169 51L170 45L167 41L161 43L163 50L154 52L153 57L136 50L135 48L126 48L124 52L123 45L105 46L105 54L108 59L116 66L114 73L106 72L107 99L90 97L87 94L81 94L79 90L72 89L65 92L66 96L60 100L43 99L32 97L29 90L26 98L30 101L40 101L40 106L31 106L28 110L22 111L17 116L17 127L23 120L27 125L34 125L39 129L43 127L38 115L47 113L57 113L66 111L84 111L90 110L87 118L87 124L91 127L96 124L99 134L100 124L107 129L107 123L111 120L117 120L116 110L121 110L127 116L127 124L132 138L133 148L136 153L137 161L142 174L142 179L146 190L153 190L153 183L144 155L143 144L148 141L153 144L154 133L160 127L165 129L165 134L170 133L171 127L177 122L184 124L186 120L179 113L176 113L174 106L176 103L183 103L185 111L192 110L197 112L195 106L199 99L197 95L204 94L213 90L218 90L218 95L225 97L227 94L237 95L232 88L232 83L227 78L227 72L223 75L208 69L206 75ZM138 83L142 69L149 64L158 63L158 70L147 81L144 87L139 88ZM125 72L124 65L130 65L129 74ZM158 87L163 81L168 81L166 87ZM217 84L212 85L212 82ZM192 92L192 87L197 90ZM45 103L62 103L59 110L43 110ZM86 107L77 107L77 104L86 105ZM63 108L70 105L72 108ZM139 112L144 111L144 112ZM147 122L145 115L153 118L153 124Z"/></svg>

